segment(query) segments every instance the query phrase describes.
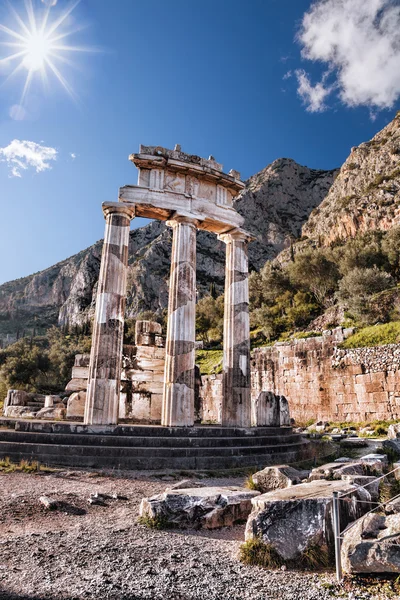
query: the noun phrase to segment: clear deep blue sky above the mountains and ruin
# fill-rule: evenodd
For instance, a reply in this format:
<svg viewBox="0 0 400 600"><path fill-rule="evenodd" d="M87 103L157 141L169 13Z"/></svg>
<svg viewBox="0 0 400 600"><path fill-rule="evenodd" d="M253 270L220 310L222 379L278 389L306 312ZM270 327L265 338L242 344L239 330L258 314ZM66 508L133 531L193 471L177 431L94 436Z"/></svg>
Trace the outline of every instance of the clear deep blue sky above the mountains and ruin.
<svg viewBox="0 0 400 600"><path fill-rule="evenodd" d="M362 6L372 3L393 9L391 0L364 0ZM26 21L23 2L12 5ZM385 126L398 105L399 55L387 56L382 42L387 69L377 64L367 78L365 65L354 57L360 73L355 90L354 69L346 73L340 56L332 58L316 39L315 31L321 31L316 13L295 40L310 5L309 0L82 0L63 30L85 28L65 43L99 51L65 53L78 68L56 63L75 101L54 74L49 72L44 89L35 71L21 103L28 68L7 80L11 66L0 63L0 283L44 269L100 239L101 203L117 200L119 186L136 183L128 155L140 143L169 148L180 143L189 153L213 154L246 179L279 157L312 168L340 166L351 146ZM58 0L50 22L68 6ZM42 0L33 1L36 15L43 8ZM342 13L330 16L332 21L322 15L324 23L333 24L325 41L337 31L335 18ZM19 29L4 0L0 24ZM394 41L396 35L388 31L384 37ZM360 46L370 38L371 32L361 32ZM9 38L3 31L0 39ZM382 36L375 43L378 52L380 41ZM0 46L3 57L10 51ZM378 96L378 77L385 77L383 89L388 82L384 97ZM51 168L40 170L32 161L19 167L10 154L12 140L55 151L55 160L49 154L45 159ZM141 224L137 219L132 226Z"/></svg>

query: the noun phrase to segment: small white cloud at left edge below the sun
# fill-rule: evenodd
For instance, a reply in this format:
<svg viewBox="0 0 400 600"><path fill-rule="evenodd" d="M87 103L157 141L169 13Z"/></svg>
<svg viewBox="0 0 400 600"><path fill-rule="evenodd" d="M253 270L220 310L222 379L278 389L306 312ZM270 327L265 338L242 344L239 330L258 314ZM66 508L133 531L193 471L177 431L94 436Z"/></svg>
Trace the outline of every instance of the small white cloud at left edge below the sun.
<svg viewBox="0 0 400 600"><path fill-rule="evenodd" d="M22 177L22 171L29 168L41 173L51 169L49 161L57 159L57 150L49 146L41 146L27 140L13 140L0 148L0 161L6 162L10 168L10 177Z"/></svg>

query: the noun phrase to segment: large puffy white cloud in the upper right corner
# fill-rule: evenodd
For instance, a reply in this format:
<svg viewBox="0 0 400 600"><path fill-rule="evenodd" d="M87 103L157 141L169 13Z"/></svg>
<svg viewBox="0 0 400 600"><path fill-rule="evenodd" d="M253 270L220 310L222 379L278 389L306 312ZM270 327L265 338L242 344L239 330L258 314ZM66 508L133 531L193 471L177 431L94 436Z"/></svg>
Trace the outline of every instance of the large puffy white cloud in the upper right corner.
<svg viewBox="0 0 400 600"><path fill-rule="evenodd" d="M346 106L374 110L392 108L399 98L398 0L316 0L303 17L298 41L303 58L327 65L316 85L305 71L296 72L308 110L324 110L333 90Z"/></svg>

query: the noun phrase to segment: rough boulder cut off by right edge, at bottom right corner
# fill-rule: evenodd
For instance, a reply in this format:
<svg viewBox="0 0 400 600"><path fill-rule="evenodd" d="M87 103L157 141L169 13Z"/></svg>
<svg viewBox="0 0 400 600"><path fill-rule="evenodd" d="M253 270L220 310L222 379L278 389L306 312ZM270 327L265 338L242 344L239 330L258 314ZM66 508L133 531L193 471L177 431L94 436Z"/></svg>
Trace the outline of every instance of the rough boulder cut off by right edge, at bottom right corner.
<svg viewBox="0 0 400 600"><path fill-rule="evenodd" d="M346 573L400 572L400 514L365 515L343 535Z"/></svg>

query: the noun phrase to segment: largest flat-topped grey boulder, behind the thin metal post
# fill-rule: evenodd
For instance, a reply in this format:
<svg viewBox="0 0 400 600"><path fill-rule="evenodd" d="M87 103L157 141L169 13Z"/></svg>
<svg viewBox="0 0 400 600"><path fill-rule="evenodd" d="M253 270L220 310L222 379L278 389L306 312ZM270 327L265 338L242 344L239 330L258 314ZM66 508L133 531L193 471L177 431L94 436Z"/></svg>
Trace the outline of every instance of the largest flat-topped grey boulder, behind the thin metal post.
<svg viewBox="0 0 400 600"><path fill-rule="evenodd" d="M253 498L246 540L271 544L284 560L296 559L310 547L332 548L334 491L347 494L340 501L342 528L369 510L371 495L363 488L344 481L302 483Z"/></svg>

